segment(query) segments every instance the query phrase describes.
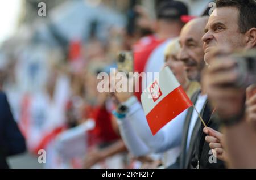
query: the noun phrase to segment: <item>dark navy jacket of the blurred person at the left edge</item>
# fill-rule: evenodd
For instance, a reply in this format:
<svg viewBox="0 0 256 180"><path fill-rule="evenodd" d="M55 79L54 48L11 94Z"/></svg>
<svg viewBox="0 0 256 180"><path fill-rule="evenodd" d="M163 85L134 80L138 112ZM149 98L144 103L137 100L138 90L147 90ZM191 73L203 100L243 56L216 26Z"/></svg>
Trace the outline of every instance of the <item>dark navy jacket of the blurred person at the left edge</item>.
<svg viewBox="0 0 256 180"><path fill-rule="evenodd" d="M9 168L6 157L26 151L26 143L11 114L5 93L0 91L0 168Z"/></svg>

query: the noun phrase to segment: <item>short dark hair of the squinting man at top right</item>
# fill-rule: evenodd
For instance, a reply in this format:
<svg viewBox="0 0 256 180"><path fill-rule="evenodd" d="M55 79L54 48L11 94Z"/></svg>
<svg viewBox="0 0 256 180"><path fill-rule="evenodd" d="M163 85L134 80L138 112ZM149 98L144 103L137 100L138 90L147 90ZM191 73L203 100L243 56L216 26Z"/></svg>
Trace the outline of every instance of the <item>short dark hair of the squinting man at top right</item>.
<svg viewBox="0 0 256 180"><path fill-rule="evenodd" d="M217 0L216 6L236 7L240 11L238 27L241 33L256 28L256 0Z"/></svg>

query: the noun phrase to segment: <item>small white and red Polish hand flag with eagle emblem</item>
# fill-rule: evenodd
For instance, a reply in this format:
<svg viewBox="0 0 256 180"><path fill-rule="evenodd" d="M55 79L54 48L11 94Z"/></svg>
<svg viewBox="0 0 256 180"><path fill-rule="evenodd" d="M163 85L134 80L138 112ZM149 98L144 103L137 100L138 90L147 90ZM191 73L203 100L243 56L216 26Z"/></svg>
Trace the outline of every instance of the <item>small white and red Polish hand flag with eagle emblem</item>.
<svg viewBox="0 0 256 180"><path fill-rule="evenodd" d="M159 78L143 91L141 100L153 135L193 105L168 66L164 67L159 73Z"/></svg>

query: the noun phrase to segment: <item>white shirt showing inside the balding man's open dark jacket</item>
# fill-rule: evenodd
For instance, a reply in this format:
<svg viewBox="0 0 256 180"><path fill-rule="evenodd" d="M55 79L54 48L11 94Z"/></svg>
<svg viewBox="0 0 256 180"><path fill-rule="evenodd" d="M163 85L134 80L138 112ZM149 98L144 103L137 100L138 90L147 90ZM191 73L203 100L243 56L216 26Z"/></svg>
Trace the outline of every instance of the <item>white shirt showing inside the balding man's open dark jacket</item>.
<svg viewBox="0 0 256 180"><path fill-rule="evenodd" d="M198 112L201 112L201 110L203 109L203 106L204 106L204 103L205 103L206 100L207 100L207 95L201 95L200 94L197 97L197 101L196 101L195 107L196 107ZM192 116L191 116L191 121L189 123L189 128L188 128L188 138L187 138L186 151L188 151L188 149L189 149L192 132L193 132L194 127L196 125L197 119L198 119L198 114L197 114L196 110L193 109L193 113L192 113Z"/></svg>

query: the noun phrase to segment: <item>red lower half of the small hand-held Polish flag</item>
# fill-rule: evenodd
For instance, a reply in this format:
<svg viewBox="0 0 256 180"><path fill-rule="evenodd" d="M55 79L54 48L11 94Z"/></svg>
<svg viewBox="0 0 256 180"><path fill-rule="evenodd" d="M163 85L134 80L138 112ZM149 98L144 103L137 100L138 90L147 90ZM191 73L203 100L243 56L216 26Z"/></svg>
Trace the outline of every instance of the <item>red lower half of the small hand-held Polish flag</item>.
<svg viewBox="0 0 256 180"><path fill-rule="evenodd" d="M152 134L155 135L160 128L192 105L181 86L174 89L146 115Z"/></svg>

